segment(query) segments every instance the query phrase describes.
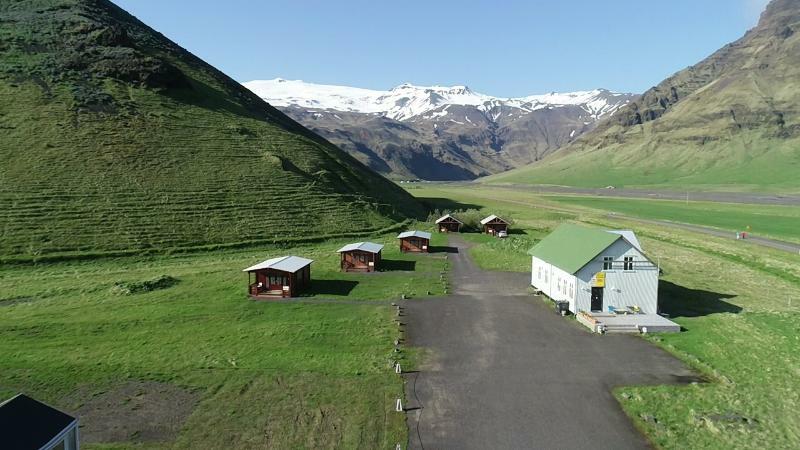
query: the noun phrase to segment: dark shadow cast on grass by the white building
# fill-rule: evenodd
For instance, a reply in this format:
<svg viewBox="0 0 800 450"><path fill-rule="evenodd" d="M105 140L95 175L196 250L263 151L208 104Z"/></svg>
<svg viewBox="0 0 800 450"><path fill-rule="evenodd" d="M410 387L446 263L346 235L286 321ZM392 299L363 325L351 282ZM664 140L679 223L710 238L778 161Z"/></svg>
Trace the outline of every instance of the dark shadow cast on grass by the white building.
<svg viewBox="0 0 800 450"><path fill-rule="evenodd" d="M658 284L658 304L661 312L670 317L701 317L716 313L738 314L742 308L725 300L733 294L689 289L669 281Z"/></svg>

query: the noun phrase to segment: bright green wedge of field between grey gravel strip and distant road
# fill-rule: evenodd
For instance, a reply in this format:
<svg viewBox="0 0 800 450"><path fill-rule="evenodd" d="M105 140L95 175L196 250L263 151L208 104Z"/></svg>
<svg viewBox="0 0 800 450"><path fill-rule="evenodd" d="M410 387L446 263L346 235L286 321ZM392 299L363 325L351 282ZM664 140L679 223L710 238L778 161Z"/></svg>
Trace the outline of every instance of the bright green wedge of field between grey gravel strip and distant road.
<svg viewBox="0 0 800 450"><path fill-rule="evenodd" d="M800 242L800 208L777 205L744 205L730 203L672 200L639 200L579 196L547 196L548 200L613 211L646 219L671 220L705 225L731 233L745 231L777 239Z"/></svg>

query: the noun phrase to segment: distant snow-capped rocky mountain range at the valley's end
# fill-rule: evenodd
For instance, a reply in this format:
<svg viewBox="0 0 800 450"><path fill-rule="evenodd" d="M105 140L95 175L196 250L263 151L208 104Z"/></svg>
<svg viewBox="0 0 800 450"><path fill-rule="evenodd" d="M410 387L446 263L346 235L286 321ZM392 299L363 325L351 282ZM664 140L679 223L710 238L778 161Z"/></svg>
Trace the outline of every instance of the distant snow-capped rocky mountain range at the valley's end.
<svg viewBox="0 0 800 450"><path fill-rule="evenodd" d="M537 161L635 98L602 89L503 99L466 86L244 85L371 168L427 180L472 179Z"/></svg>

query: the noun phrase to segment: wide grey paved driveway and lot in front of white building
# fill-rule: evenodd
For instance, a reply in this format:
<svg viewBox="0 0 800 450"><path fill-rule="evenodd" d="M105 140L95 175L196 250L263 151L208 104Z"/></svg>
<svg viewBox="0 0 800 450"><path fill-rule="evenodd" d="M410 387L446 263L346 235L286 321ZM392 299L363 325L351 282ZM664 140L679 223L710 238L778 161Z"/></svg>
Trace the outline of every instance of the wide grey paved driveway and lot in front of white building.
<svg viewBox="0 0 800 450"><path fill-rule="evenodd" d="M636 336L558 317L526 293L526 274L479 270L450 243L454 294L403 303L408 343L427 349L404 375L410 448L647 448L610 389L695 374Z"/></svg>

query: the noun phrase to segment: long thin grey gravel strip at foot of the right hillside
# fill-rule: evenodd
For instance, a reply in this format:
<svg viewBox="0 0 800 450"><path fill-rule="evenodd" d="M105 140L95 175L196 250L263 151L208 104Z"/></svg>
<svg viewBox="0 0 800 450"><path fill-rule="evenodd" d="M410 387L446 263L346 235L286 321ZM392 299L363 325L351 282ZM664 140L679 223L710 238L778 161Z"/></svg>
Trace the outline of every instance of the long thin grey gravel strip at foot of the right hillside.
<svg viewBox="0 0 800 450"><path fill-rule="evenodd" d="M573 188L566 186L535 186L528 184L499 184L490 186L550 194L580 194L596 195L600 197L651 198L660 200L686 200L688 196L688 199L691 201L800 206L800 196L797 195L760 194L752 192L681 192L662 191L656 189L593 189Z"/></svg>

